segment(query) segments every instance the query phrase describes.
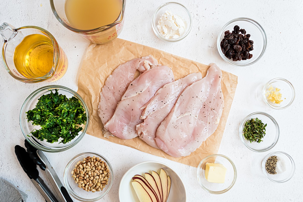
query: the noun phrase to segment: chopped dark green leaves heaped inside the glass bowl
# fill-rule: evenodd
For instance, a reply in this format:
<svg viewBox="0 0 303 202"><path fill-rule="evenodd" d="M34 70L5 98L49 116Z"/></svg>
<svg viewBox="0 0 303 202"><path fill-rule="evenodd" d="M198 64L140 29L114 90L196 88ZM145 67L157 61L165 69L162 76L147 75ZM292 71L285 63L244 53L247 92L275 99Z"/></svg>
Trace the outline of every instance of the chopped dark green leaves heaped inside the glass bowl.
<svg viewBox="0 0 303 202"><path fill-rule="evenodd" d="M50 90L51 91L51 90ZM68 143L74 139L80 131L81 124L86 122L85 110L76 97L67 98L55 93L42 95L33 110L26 112L28 122L39 125L41 129L34 129L31 134L37 139L54 143L62 138L60 143Z"/></svg>

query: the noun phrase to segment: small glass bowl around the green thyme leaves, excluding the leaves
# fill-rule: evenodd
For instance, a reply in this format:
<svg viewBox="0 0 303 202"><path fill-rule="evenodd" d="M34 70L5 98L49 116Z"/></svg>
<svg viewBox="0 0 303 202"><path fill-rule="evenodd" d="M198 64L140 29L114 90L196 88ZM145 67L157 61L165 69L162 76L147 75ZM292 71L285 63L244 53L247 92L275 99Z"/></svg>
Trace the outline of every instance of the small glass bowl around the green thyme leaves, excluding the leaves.
<svg viewBox="0 0 303 202"><path fill-rule="evenodd" d="M246 140L243 136L244 125L246 121L251 120L251 118L258 118L263 124L267 124L265 127L265 136L262 138L263 141L260 143L250 143L250 141ZM271 115L265 112L254 112L243 119L239 127L239 134L241 141L248 149L255 152L264 152L270 150L277 144L280 136L280 128L277 121Z"/></svg>

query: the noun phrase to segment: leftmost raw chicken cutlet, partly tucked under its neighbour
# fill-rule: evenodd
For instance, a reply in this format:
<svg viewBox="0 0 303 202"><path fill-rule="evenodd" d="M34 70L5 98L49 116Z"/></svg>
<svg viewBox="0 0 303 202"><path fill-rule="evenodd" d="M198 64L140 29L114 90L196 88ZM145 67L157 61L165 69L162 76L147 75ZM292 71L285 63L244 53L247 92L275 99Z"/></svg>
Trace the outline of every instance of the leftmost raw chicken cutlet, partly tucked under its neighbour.
<svg viewBox="0 0 303 202"><path fill-rule="evenodd" d="M129 83L134 80L136 70L144 72L150 69L152 65L158 66L158 61L150 55L136 58L119 65L112 75L108 76L100 92L98 103L98 115L103 125L112 118L122 95ZM109 134L104 134L105 137L106 135Z"/></svg>

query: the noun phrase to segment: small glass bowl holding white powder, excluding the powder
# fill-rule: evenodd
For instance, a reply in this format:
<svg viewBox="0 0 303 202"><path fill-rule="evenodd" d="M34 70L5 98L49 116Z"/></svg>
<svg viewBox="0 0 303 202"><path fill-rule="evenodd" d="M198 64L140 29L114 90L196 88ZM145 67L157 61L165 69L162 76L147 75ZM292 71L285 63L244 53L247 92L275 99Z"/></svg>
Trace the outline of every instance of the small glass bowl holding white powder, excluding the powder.
<svg viewBox="0 0 303 202"><path fill-rule="evenodd" d="M185 32L179 38L167 39L167 38L164 38L160 34L160 32L157 28L157 25L158 25L159 18L161 17L162 14L165 13L165 11L170 11L173 15L178 15L181 19L184 20L185 26L186 26ZM190 32L191 27L192 27L192 18L191 18L190 12L184 5L182 5L178 2L166 2L157 8L157 10L155 11L155 13L152 17L151 23L152 23L152 28L155 32L155 35L158 38L162 39L163 41L167 41L167 42L177 42L177 41L181 41L182 39L184 39Z"/></svg>

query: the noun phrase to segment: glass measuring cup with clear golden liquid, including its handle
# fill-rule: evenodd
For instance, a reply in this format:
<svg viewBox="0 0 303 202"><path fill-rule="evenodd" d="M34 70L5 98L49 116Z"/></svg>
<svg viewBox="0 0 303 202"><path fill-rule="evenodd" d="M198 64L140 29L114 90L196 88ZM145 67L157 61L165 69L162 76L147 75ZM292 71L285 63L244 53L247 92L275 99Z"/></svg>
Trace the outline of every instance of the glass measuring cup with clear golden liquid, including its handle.
<svg viewBox="0 0 303 202"><path fill-rule="evenodd" d="M0 26L4 39L2 60L8 73L18 81L56 81L67 69L67 57L51 33L36 26Z"/></svg>

